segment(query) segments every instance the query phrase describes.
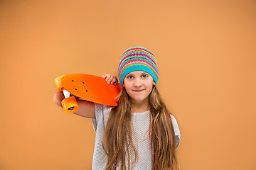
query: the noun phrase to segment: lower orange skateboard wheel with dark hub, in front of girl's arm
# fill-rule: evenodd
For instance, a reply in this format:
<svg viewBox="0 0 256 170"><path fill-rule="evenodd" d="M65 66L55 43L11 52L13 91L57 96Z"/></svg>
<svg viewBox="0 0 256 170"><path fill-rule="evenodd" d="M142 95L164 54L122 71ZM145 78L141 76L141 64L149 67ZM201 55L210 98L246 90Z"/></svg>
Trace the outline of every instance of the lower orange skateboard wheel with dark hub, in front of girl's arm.
<svg viewBox="0 0 256 170"><path fill-rule="evenodd" d="M61 101L65 113L74 113L78 111L78 102L76 101L75 97L68 97L64 98Z"/></svg>

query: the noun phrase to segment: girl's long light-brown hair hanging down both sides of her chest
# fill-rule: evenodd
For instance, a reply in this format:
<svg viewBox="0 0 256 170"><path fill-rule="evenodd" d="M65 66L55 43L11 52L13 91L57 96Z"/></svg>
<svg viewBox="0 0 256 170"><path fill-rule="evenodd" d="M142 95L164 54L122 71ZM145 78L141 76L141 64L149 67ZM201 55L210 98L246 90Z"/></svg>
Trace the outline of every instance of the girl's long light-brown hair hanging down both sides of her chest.
<svg viewBox="0 0 256 170"><path fill-rule="evenodd" d="M132 141L132 106L130 96L124 88L118 96L118 106L113 107L110 112L102 139L102 147L107 155L107 170L116 169L117 166L127 169L125 162L129 162L128 169L132 169L137 161L137 149ZM149 108L152 169L179 169L170 112L156 86L153 86L149 94ZM132 155L134 159L131 158Z"/></svg>

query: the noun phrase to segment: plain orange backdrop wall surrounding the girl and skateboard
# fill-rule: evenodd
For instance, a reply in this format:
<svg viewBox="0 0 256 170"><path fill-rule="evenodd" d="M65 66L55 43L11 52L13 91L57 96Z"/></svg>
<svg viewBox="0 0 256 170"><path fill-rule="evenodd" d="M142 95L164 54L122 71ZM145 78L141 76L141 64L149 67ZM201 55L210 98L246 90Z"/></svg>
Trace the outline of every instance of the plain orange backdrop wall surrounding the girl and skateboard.
<svg viewBox="0 0 256 170"><path fill-rule="evenodd" d="M0 1L0 169L90 169L90 119L53 103L62 74L117 76L152 50L185 170L256 169L256 2Z"/></svg>

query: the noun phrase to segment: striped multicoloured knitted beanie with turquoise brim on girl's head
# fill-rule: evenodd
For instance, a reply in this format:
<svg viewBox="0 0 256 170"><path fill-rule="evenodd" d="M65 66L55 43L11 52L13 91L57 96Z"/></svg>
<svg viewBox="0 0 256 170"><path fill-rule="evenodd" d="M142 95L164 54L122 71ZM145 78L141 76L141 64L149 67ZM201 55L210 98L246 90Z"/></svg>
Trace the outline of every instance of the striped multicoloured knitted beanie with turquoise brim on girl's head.
<svg viewBox="0 0 256 170"><path fill-rule="evenodd" d="M156 58L153 52L144 47L131 47L125 50L119 58L118 77L120 84L123 85L124 77L129 72L144 71L153 77L155 83L159 79Z"/></svg>

